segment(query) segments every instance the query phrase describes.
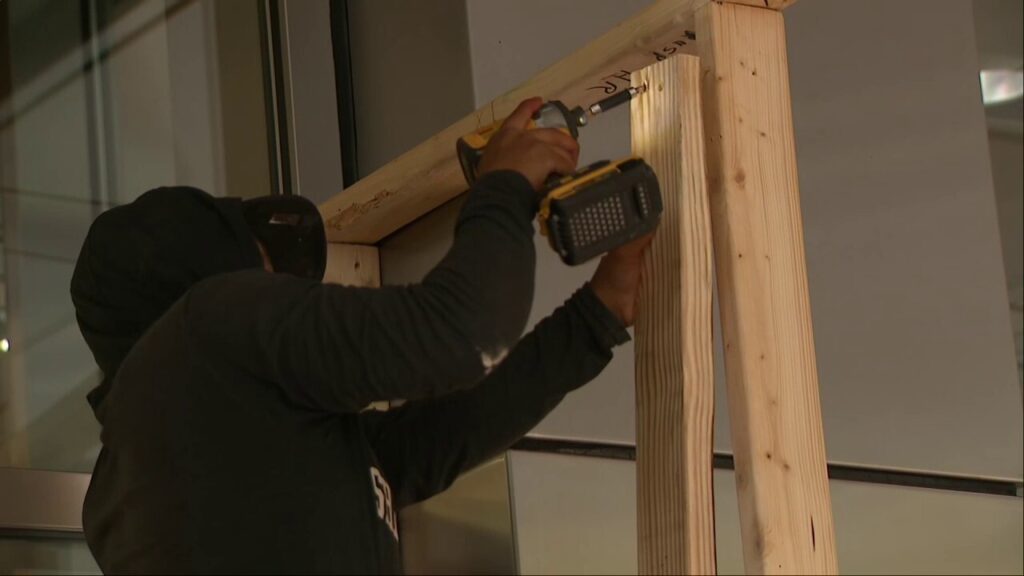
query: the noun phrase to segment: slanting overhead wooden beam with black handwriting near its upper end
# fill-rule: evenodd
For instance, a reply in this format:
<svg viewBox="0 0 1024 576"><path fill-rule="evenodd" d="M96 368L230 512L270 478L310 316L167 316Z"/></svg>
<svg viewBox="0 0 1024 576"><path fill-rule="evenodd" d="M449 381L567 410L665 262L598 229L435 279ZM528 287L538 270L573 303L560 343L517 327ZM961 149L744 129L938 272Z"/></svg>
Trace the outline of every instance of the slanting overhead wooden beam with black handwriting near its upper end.
<svg viewBox="0 0 1024 576"><path fill-rule="evenodd" d="M707 0L659 0L573 54L459 120L321 206L331 242L376 244L466 190L456 140L541 95L591 104L629 85L629 75L690 52L693 9Z"/></svg>

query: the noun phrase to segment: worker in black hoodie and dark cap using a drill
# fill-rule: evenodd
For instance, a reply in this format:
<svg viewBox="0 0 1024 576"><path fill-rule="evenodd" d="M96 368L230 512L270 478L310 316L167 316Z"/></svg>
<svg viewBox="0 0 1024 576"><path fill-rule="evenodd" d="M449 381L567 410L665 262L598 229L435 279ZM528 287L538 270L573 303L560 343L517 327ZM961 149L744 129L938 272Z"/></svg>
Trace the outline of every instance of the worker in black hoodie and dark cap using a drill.
<svg viewBox="0 0 1024 576"><path fill-rule="evenodd" d="M322 284L323 223L295 197L158 189L96 218L71 291L104 375L84 508L104 572L398 573L398 509L604 368L629 338L645 241L519 340L536 191L578 154L524 129L540 104L488 146L417 285ZM364 410L393 399L408 402Z"/></svg>

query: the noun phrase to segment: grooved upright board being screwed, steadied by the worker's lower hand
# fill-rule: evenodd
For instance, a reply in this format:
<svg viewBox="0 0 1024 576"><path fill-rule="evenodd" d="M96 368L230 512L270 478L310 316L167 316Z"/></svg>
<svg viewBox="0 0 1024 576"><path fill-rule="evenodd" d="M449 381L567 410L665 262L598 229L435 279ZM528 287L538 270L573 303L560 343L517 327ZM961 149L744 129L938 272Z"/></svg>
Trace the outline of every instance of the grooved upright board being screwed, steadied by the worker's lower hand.
<svg viewBox="0 0 1024 576"><path fill-rule="evenodd" d="M665 212L644 261L637 317L637 530L641 574L714 574L712 245L700 63L633 73L633 153L654 169Z"/></svg>

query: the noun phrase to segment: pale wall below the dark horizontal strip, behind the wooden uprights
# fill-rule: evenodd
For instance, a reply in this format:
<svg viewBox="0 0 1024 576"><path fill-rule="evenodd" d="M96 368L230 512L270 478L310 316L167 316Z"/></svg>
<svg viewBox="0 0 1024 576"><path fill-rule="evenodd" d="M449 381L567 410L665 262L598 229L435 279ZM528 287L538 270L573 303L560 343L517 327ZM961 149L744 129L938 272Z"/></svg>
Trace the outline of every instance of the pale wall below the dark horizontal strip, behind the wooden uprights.
<svg viewBox="0 0 1024 576"><path fill-rule="evenodd" d="M636 574L634 463L511 452L521 574ZM715 471L718 573L742 574L735 477ZM1024 502L833 481L841 574L1020 574Z"/></svg>

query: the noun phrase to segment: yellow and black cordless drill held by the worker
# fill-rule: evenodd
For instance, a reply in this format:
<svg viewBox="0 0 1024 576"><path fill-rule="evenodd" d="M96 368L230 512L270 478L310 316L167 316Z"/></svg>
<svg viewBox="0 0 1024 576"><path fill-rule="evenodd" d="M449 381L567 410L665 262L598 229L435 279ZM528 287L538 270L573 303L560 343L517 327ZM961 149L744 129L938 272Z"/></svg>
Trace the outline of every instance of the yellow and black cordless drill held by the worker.
<svg viewBox="0 0 1024 576"><path fill-rule="evenodd" d="M587 125L588 112L596 116L643 93L631 87L612 94L584 111L569 109L560 100L547 101L535 114L529 128L557 128L574 139ZM456 143L466 181L476 180L483 150L502 122L467 134ZM567 264L583 263L594 256L627 244L657 227L662 194L657 177L642 159L595 162L575 173L553 176L542 191L538 214L541 234Z"/></svg>

